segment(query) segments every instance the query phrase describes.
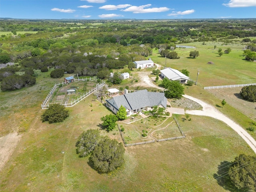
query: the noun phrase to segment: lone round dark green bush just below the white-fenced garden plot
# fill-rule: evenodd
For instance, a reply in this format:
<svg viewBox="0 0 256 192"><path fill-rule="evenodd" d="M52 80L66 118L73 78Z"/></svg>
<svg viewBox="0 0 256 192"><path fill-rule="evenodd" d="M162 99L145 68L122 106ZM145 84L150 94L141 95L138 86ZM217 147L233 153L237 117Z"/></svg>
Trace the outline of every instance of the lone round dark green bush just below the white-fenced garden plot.
<svg viewBox="0 0 256 192"><path fill-rule="evenodd" d="M52 104L41 116L42 122L57 123L64 121L69 116L68 110L61 104Z"/></svg>

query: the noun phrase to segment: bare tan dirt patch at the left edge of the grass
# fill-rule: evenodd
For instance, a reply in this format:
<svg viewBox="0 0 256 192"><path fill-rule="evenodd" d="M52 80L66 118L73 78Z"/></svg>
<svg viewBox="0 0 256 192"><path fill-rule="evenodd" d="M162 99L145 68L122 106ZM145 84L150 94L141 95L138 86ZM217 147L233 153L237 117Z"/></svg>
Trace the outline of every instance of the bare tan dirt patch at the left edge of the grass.
<svg viewBox="0 0 256 192"><path fill-rule="evenodd" d="M14 152L21 135L10 133L0 138L0 171Z"/></svg>

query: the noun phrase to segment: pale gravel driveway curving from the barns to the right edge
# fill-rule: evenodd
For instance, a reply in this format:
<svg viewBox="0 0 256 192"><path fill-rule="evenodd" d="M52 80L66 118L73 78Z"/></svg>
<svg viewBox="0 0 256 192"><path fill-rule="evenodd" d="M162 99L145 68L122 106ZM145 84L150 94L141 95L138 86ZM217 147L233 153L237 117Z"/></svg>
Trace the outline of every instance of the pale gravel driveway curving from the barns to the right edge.
<svg viewBox="0 0 256 192"><path fill-rule="evenodd" d="M158 64L156 64L156 65L158 68L161 67ZM141 82L140 82L141 86L146 86L146 87L150 86L150 87L158 88L160 90L164 90L163 88L156 86L152 82L152 80L150 80L150 78L148 77L148 74L142 72L142 73L139 73L139 76L141 78ZM256 141L241 126L236 124L233 120L231 120L230 118L228 118L227 116L225 116L220 111L218 111L216 108L207 104L206 102L203 102L202 100L199 100L197 98L194 98L194 97L188 96L188 95L184 95L184 97L199 103L203 107L203 110L186 110L187 114L210 116L210 117L213 117L213 118L223 121L228 126L230 126L234 131L236 131L244 139L244 141L252 148L252 150L254 150L254 152L256 153Z"/></svg>

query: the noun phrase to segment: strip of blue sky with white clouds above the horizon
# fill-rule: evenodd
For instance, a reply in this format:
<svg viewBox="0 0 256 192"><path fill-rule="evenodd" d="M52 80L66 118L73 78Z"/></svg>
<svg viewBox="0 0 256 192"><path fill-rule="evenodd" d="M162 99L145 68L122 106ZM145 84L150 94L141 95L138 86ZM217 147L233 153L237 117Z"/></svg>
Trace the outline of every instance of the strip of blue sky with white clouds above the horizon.
<svg viewBox="0 0 256 192"><path fill-rule="evenodd" d="M256 18L256 0L1 0L18 19Z"/></svg>

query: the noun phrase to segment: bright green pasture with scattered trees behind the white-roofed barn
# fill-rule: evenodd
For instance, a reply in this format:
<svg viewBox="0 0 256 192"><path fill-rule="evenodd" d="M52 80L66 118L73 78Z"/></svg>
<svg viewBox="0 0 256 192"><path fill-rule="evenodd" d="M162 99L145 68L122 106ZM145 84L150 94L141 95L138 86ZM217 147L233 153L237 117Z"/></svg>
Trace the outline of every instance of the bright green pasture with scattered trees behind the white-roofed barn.
<svg viewBox="0 0 256 192"><path fill-rule="evenodd" d="M176 48L180 59L166 59L160 57L158 50L153 50L153 56L150 56L155 63L162 66L171 67L182 70L187 69L190 74L189 77L196 81L197 72L199 86L218 86L218 85L232 85L245 84L256 82L256 62L249 62L244 60L242 44L228 44L222 45L220 42L194 42L184 44L188 46L195 46L193 48ZM214 49L216 45L216 49ZM222 51L226 48L231 48L229 54L218 55L218 48ZM198 50L199 56L197 58L190 58L190 51ZM208 62L214 64L207 64Z"/></svg>

